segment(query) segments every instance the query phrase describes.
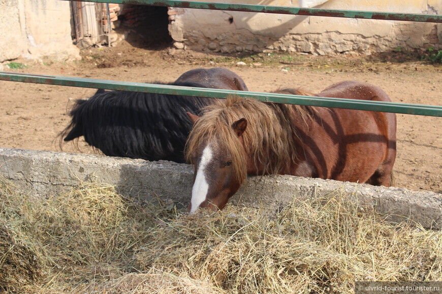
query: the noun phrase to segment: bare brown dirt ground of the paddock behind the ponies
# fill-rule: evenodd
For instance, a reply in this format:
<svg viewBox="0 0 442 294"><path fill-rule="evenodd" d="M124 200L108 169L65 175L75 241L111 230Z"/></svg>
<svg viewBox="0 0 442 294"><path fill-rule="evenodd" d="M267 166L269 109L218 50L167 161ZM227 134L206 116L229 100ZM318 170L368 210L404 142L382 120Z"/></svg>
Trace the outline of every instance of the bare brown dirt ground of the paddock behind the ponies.
<svg viewBox="0 0 442 294"><path fill-rule="evenodd" d="M250 91L301 87L320 92L329 85L358 80L383 88L395 102L441 105L442 65L417 61L413 54L377 57L319 57L302 54L260 53L222 56L146 48L121 41L115 47L82 51L77 62L16 60L28 73L130 82L172 82L197 67L223 66L238 73ZM239 66L243 61L246 65ZM62 149L58 134L69 124L73 100L87 98L94 89L0 81L0 146L5 148L94 152L84 141ZM396 187L442 193L442 118L397 115Z"/></svg>

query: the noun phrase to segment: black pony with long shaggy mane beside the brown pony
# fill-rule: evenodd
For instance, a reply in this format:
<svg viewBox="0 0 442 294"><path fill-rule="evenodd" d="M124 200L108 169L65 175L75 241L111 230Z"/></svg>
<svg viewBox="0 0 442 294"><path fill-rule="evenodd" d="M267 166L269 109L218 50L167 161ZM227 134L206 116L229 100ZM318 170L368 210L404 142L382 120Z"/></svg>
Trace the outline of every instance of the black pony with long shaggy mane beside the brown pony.
<svg viewBox="0 0 442 294"><path fill-rule="evenodd" d="M169 85L247 91L233 71L215 67L183 73ZM183 150L192 123L186 112L213 103L213 98L98 90L77 100L71 123L61 133L65 141L84 136L107 156L184 162Z"/></svg>

